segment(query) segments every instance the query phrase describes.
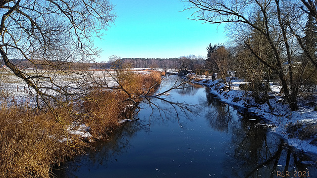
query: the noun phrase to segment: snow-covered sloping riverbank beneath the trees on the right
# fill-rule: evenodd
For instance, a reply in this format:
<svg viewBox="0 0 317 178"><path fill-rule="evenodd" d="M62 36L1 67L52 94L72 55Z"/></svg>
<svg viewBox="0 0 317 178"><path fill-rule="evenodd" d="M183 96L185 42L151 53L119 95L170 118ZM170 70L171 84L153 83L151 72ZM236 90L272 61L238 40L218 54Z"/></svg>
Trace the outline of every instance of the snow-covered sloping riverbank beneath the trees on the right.
<svg viewBox="0 0 317 178"><path fill-rule="evenodd" d="M252 92L243 88L247 83L234 79L231 88L222 80L204 76L191 76L193 83L207 86L211 93L241 112L261 118L259 124L265 125L270 132L281 135L288 144L306 152L317 163L317 93L302 93L298 98L298 111L290 111L289 105L280 94L281 86L270 84L269 104L254 99ZM243 88L243 89L241 89ZM269 107L269 105L271 107Z"/></svg>

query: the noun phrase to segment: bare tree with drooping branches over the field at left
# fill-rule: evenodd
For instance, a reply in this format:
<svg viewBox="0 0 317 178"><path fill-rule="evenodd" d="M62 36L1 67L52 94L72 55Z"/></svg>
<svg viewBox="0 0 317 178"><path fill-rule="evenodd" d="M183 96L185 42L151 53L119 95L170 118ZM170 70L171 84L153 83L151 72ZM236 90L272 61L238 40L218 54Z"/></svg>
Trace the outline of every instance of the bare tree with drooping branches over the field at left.
<svg viewBox="0 0 317 178"><path fill-rule="evenodd" d="M40 100L51 110L51 101L66 106L87 92L93 83L89 66L77 63L98 55L93 41L114 21L112 8L108 0L0 2L1 59L31 88L39 107ZM28 61L28 69L13 59Z"/></svg>

